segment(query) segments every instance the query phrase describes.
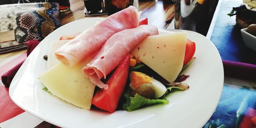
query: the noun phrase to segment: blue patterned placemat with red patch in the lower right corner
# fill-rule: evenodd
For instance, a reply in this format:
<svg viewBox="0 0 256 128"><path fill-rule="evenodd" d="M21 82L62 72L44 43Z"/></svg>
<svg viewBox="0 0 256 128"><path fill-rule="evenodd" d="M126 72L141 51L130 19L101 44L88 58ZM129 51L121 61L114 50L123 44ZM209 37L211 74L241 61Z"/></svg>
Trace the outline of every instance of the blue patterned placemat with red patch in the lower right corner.
<svg viewBox="0 0 256 128"><path fill-rule="evenodd" d="M255 128L256 90L224 85L218 107L204 128Z"/></svg>

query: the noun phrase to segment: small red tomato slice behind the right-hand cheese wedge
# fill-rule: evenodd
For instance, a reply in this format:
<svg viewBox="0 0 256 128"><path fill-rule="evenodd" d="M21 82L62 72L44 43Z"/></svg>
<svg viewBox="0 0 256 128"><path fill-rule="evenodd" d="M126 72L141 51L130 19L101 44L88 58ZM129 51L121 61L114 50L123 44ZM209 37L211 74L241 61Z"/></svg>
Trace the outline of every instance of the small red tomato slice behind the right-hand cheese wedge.
<svg viewBox="0 0 256 128"><path fill-rule="evenodd" d="M187 39L183 65L187 64L192 59L194 54L195 54L195 42L192 42L189 39Z"/></svg>

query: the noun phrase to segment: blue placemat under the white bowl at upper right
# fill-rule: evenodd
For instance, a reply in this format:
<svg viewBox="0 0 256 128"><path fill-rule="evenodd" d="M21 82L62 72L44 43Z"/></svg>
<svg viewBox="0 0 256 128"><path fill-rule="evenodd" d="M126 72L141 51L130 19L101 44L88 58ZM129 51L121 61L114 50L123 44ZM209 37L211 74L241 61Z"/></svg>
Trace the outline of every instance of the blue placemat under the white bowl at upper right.
<svg viewBox="0 0 256 128"><path fill-rule="evenodd" d="M222 60L256 64L256 51L245 46L241 28L236 25L236 16L228 16L233 7L242 1L222 0L212 31L211 41L217 47Z"/></svg>

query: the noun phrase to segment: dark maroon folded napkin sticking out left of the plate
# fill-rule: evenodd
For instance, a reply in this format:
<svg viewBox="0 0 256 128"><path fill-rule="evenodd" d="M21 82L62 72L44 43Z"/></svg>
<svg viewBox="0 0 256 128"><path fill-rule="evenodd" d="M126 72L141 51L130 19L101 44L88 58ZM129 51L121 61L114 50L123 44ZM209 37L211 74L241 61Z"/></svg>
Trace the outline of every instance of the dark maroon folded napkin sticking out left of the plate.
<svg viewBox="0 0 256 128"><path fill-rule="evenodd" d="M39 44L38 41L28 41L26 43L27 45L27 56L29 56L29 54L33 51L33 49L35 49L35 47ZM2 76L2 82L6 87L9 87L13 77L15 76L15 74L17 73L17 71L20 69L20 66L23 64L25 60L21 61L20 63L18 63L15 67L12 67L12 69L10 69L9 71L7 71L6 73L3 74Z"/></svg>

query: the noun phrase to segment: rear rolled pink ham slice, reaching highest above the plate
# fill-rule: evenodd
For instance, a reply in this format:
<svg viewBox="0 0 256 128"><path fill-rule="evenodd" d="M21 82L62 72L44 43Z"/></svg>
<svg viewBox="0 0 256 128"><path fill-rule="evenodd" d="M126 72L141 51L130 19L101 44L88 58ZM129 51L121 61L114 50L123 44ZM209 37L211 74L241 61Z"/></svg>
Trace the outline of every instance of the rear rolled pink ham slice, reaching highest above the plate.
<svg viewBox="0 0 256 128"><path fill-rule="evenodd" d="M138 26L137 10L130 6L117 12L68 42L55 51L55 57L71 67L102 47L116 32Z"/></svg>

